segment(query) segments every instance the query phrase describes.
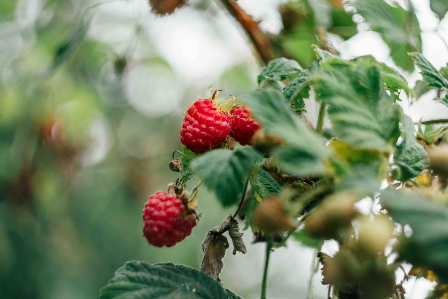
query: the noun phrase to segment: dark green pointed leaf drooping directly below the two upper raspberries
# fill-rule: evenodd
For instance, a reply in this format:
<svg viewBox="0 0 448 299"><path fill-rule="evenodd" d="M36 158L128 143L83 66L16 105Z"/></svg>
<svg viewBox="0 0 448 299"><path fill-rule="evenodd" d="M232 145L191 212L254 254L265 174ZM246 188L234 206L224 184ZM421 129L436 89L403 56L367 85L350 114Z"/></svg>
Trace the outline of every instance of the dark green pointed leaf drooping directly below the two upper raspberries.
<svg viewBox="0 0 448 299"><path fill-rule="evenodd" d="M215 192L220 203L228 207L240 200L252 162L262 158L252 147L236 151L216 149L194 159L190 167Z"/></svg>

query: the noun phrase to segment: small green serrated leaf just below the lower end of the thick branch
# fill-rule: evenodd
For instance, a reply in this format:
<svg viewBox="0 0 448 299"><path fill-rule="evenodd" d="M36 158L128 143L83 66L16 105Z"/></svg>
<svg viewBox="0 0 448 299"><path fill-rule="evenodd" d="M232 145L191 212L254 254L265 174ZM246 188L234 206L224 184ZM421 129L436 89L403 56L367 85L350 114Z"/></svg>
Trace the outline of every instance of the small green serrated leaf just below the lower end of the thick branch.
<svg viewBox="0 0 448 299"><path fill-rule="evenodd" d="M297 61L286 59L284 57L276 58L269 61L269 63L262 69L258 75L257 82L260 84L263 80L270 79L275 81L283 81L289 75L297 73L300 65Z"/></svg>

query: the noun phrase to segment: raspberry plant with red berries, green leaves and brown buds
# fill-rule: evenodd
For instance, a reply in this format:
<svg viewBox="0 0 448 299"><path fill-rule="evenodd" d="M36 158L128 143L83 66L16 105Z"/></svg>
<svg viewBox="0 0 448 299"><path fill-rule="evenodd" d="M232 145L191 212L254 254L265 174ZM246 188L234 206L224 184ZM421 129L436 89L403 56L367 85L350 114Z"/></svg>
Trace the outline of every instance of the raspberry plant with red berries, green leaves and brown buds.
<svg viewBox="0 0 448 299"><path fill-rule="evenodd" d="M154 9L172 13L171 6L159 10L161 2ZM238 19L237 4L223 2ZM220 279L229 247L224 232L232 240L233 254L250 254L238 221L244 221L254 242L266 244L261 299L267 298L270 256L289 242L316 249L329 298L402 299L403 283L414 276L437 282L428 298L446 298L447 127L430 122L422 129L419 123L416 132L398 103L418 100L434 89L435 100L448 106L447 69L435 69L419 53L420 29L412 4L406 11L383 0L350 3L391 48L396 65L412 71L415 64L421 70L422 80L414 89L398 70L373 56L345 60L326 41L326 32L344 39L356 32L342 1L329 1L334 16L339 14L333 25L309 36L307 42L318 45L298 51L292 40L302 22L299 4L311 9L309 2L290 1L282 7L284 31L274 43L278 49L263 48L258 27L240 20L266 62L258 88L230 100L218 99L216 90L208 95L211 99L187 108L180 126L185 147L170 164L180 176L170 182L168 193L149 196L145 205L143 234L157 247L181 242L199 216L207 217L207 211L195 210L206 200L202 188L214 192L223 207L235 208L204 236L200 269L130 261L101 289L100 298L241 298ZM442 2L431 1L439 16L448 10ZM289 58L274 58L276 52ZM315 126L307 119L305 99L320 106ZM196 185L186 191L194 178ZM357 203L365 199L378 203L379 211L361 213ZM411 234L404 233L407 227ZM327 240L339 246L333 256L321 251ZM412 265L409 272L405 263ZM403 280L397 278L401 271Z"/></svg>

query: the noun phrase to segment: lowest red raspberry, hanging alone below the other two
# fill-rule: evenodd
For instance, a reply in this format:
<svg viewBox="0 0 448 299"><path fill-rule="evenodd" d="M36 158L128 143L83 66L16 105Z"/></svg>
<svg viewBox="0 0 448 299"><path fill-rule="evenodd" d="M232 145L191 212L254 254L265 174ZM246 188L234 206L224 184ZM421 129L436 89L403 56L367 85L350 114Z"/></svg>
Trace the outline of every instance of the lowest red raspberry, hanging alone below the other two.
<svg viewBox="0 0 448 299"><path fill-rule="evenodd" d="M196 226L196 219L186 214L182 200L164 191L149 197L143 209L143 221L143 235L156 247L174 246Z"/></svg>

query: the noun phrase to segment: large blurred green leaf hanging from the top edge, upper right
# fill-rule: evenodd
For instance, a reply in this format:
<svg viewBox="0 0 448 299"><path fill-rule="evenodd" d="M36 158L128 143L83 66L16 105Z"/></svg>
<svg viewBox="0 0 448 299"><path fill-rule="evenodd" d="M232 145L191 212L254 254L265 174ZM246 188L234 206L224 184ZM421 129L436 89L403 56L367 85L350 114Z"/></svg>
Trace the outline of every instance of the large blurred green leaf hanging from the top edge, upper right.
<svg viewBox="0 0 448 299"><path fill-rule="evenodd" d="M384 0L357 0L353 5L391 48L395 64L409 72L414 70L407 52L421 52L422 37L412 4L409 3L409 11L401 6L391 6Z"/></svg>

